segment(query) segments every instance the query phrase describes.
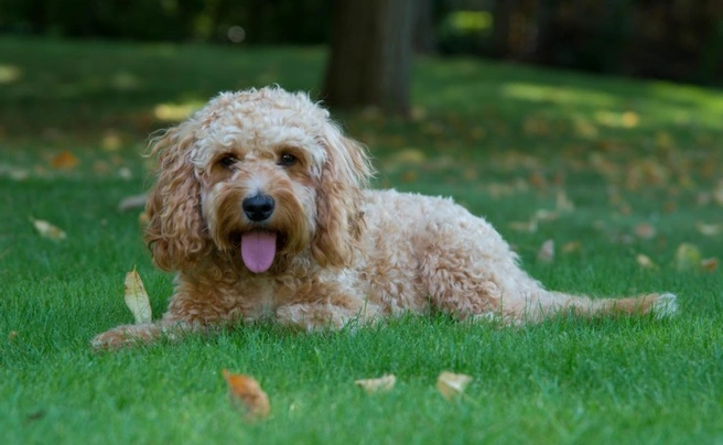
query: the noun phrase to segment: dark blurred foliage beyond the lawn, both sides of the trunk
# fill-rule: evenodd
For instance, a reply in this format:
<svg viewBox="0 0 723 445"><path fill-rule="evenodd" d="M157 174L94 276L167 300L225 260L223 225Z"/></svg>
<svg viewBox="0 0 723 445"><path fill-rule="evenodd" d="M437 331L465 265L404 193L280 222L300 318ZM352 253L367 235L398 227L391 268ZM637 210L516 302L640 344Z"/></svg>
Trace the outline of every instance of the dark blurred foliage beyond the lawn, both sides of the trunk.
<svg viewBox="0 0 723 445"><path fill-rule="evenodd" d="M416 50L723 84L720 0L418 0ZM0 33L326 44L333 0L3 0Z"/></svg>

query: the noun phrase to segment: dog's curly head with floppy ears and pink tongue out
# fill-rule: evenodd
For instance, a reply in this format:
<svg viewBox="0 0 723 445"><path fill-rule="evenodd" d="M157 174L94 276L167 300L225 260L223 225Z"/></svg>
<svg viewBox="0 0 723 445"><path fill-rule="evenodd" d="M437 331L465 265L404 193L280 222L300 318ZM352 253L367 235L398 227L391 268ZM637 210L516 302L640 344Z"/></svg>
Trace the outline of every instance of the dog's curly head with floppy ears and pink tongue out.
<svg viewBox="0 0 723 445"><path fill-rule="evenodd" d="M366 150L328 112L280 88L224 93L152 144L158 180L145 240L162 269L217 252L255 273L310 252L352 260Z"/></svg>

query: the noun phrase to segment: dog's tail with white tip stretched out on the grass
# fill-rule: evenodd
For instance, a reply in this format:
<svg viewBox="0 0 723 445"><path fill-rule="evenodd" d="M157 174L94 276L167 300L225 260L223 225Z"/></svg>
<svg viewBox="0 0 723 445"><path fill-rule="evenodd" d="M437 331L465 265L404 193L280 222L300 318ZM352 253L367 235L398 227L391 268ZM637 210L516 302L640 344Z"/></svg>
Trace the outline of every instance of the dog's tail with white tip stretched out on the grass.
<svg viewBox="0 0 723 445"><path fill-rule="evenodd" d="M519 314L519 311L516 311ZM573 313L594 318L615 315L651 314L655 318L666 318L678 312L675 294L646 294L626 299L590 299L562 292L542 291L527 301L521 311L527 321L541 322L555 314Z"/></svg>

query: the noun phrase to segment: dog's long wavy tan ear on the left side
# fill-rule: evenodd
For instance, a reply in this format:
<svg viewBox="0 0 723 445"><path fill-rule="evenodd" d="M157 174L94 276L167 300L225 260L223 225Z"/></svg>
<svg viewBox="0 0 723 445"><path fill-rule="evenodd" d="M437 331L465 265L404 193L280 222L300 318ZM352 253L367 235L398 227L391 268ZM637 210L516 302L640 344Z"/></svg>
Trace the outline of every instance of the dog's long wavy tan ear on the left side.
<svg viewBox="0 0 723 445"><path fill-rule="evenodd" d="M194 138L182 123L153 140L157 182L145 203L145 242L163 270L191 267L208 249L201 214L201 186L188 159Z"/></svg>

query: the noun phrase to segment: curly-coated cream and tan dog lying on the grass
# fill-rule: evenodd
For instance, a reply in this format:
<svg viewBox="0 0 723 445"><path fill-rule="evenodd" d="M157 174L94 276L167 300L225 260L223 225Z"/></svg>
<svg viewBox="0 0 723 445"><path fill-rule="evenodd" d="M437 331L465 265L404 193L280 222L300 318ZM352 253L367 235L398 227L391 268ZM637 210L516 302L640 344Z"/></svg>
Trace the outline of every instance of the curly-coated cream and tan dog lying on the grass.
<svg viewBox="0 0 723 445"><path fill-rule="evenodd" d="M95 347L273 319L341 327L404 312L540 322L676 312L672 294L591 300L547 291L483 218L451 199L367 188L366 150L302 93L224 93L154 141L145 239L176 271L161 321Z"/></svg>

